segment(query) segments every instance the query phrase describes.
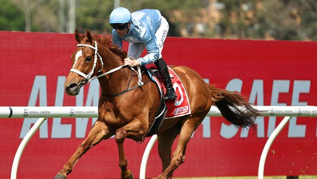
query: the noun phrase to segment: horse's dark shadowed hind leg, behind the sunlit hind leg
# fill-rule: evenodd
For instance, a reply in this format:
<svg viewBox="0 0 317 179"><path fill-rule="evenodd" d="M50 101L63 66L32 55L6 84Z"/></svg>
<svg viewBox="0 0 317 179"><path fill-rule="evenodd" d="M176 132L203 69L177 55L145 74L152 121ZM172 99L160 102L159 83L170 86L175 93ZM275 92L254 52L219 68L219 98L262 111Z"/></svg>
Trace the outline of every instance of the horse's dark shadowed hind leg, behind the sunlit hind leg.
<svg viewBox="0 0 317 179"><path fill-rule="evenodd" d="M180 127L174 126L173 128L158 134L158 155L162 161L162 172L171 164L172 145L180 132ZM167 179L172 179L173 172L167 176Z"/></svg>

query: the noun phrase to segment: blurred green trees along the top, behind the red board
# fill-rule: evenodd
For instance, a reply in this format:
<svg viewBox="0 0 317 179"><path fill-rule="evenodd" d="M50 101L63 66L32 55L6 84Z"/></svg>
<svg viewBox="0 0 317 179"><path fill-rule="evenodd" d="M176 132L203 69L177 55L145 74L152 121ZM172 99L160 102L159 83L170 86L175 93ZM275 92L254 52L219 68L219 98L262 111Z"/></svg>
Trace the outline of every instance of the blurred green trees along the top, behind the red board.
<svg viewBox="0 0 317 179"><path fill-rule="evenodd" d="M0 0L0 30L24 30L28 2L32 31L65 32L68 0ZM317 40L317 0L120 0L131 12L158 9L169 36ZM76 28L110 32L114 0L76 0Z"/></svg>

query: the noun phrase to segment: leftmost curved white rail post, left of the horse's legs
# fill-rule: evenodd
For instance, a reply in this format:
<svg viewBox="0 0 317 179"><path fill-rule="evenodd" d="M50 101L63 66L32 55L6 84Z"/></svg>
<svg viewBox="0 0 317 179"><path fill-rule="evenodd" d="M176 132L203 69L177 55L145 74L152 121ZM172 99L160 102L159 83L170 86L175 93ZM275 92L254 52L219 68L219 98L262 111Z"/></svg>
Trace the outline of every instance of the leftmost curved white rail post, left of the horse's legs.
<svg viewBox="0 0 317 179"><path fill-rule="evenodd" d="M30 129L30 131L25 135L22 142L19 145L19 148L17 150L17 153L13 159L12 169L11 169L11 179L17 179L17 172L18 172L18 166L20 162L21 155L23 153L23 150L26 146L26 144L29 142L29 140L32 138L32 136L37 132L37 130L40 128L40 125L45 121L46 118L39 118L36 123L33 125L33 127Z"/></svg>

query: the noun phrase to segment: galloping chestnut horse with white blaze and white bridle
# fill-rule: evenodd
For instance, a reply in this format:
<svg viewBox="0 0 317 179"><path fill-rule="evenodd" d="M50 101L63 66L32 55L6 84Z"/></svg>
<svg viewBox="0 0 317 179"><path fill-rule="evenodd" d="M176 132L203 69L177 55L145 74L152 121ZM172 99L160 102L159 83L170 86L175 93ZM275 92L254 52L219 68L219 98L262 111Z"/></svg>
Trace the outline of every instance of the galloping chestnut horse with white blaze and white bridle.
<svg viewBox="0 0 317 179"><path fill-rule="evenodd" d="M113 135L118 145L121 179L133 179L132 172L127 168L123 142L126 138L144 141L160 105L158 88L144 73L142 79L147 82L142 86L137 85L139 78L136 72L124 66L123 59L127 53L112 44L110 35L91 34L88 29L85 35L79 35L77 30L74 35L79 45L71 56L72 69L65 79L64 88L67 94L77 95L80 88L92 80L91 77L98 77L101 88L99 116L88 136L54 179L66 179L84 153ZM173 171L185 161L186 146L191 135L212 105L218 107L222 116L236 127L254 128L255 118L259 115L259 111L241 94L207 84L189 67L170 67L187 91L191 114L164 120L158 129L158 154L162 162L162 173L158 179L172 179ZM135 88L129 88L133 85ZM131 105L135 109L131 110ZM177 147L172 156L172 144L178 135Z"/></svg>

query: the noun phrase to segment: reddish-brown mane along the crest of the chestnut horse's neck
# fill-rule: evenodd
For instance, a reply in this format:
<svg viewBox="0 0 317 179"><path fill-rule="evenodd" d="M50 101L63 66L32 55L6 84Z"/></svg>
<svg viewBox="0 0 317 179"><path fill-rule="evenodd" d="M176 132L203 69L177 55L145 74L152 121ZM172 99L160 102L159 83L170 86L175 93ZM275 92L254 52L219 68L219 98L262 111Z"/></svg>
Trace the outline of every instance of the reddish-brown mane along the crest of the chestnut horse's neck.
<svg viewBox="0 0 317 179"><path fill-rule="evenodd" d="M119 49L117 45L112 44L112 37L108 33L98 35L97 33L92 34L93 38L101 45L108 48L112 53L118 55L122 60L127 57L127 52L122 48Z"/></svg>

